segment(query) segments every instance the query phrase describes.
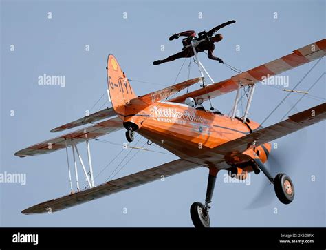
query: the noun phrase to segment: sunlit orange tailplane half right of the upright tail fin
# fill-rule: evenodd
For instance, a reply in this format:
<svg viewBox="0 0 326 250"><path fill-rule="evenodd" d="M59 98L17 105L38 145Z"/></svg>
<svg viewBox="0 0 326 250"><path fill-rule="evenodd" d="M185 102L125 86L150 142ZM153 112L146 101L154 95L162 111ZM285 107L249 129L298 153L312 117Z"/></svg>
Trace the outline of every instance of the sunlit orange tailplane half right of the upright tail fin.
<svg viewBox="0 0 326 250"><path fill-rule="evenodd" d="M162 90L157 90L155 92L145 94L144 96L132 99L130 103L136 105L151 105L157 101L161 101L173 94L176 94L177 92L180 92L180 90L183 90L186 87L190 87L191 85L198 83L199 81L202 81L202 77L190 79L188 81L184 81L182 83L178 83L170 87L165 87Z"/></svg>

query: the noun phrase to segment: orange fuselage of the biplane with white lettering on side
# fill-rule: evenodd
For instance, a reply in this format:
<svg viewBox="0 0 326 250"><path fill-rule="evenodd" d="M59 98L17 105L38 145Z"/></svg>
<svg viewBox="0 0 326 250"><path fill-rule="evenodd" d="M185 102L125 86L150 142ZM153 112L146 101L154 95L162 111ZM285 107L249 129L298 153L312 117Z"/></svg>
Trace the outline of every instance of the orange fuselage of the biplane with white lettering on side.
<svg viewBox="0 0 326 250"><path fill-rule="evenodd" d="M137 132L145 138L180 158L206 167L215 165L218 169L228 169L230 165L246 163L252 158L265 162L271 149L270 143L265 143L243 153L219 154L215 150L217 146L250 134L259 123L245 124L238 118L196 110L185 104L126 105L123 113L120 118L138 125Z"/></svg>

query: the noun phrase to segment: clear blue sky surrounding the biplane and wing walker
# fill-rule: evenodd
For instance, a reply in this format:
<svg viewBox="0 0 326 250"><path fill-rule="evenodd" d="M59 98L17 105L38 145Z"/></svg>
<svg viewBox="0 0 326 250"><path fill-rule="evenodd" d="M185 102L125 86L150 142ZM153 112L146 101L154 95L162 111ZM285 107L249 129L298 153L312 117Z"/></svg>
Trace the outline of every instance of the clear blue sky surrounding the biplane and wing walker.
<svg viewBox="0 0 326 250"><path fill-rule="evenodd" d="M52 12L52 19L47 13ZM127 19L123 19L127 12ZM198 13L202 12L202 19ZM274 19L277 12L278 19ZM241 70L277 59L292 50L325 38L325 1L1 1L1 173L24 173L27 183L0 183L0 225L3 227L193 227L189 207L204 201L208 171L204 168L166 178L113 196L66 209L52 215L25 216L21 210L69 193L65 152L17 158L17 150L56 136L50 129L84 116L107 87L107 54L116 56L130 79L172 84L183 59L153 66L152 62L181 50L181 39L168 37L184 30L208 30L235 19L221 33L215 55ZM14 52L10 51L14 45ZM89 52L85 51L89 45ZM165 50L161 51L161 45ZM235 50L240 45L241 50ZM235 72L200 59L215 81ZM187 78L188 60L178 81ZM313 63L291 72L290 87ZM325 59L303 81L307 88L325 71ZM43 74L64 75L66 86L41 86ZM191 77L198 76L192 64ZM138 95L158 90L154 84L131 82ZM310 94L325 98L325 76ZM222 112L232 107L235 93L213 100ZM250 118L261 122L285 92L258 85ZM276 123L299 98L292 94L265 125ZM298 112L320 104L304 98ZM100 103L102 104L102 103ZM206 104L207 106L208 104ZM92 111L96 111L100 105ZM14 116L10 116L14 110ZM124 143L124 131L103 139ZM140 145L146 140L142 139ZM251 185L224 183L218 176L212 227L324 227L325 226L325 123L276 140L272 154L289 174L296 198L283 205L276 198L269 205L248 209L267 183L263 174L252 176ZM80 145L80 149L81 149ZM111 161L122 146L91 143L95 174ZM151 146L153 150L160 150ZM98 178L103 183L128 149ZM131 155L135 152L131 152ZM130 155L129 155L130 156ZM118 176L155 167L176 157L139 152ZM128 158L127 158L128 159ZM277 166L270 166L276 174ZM81 171L79 172L81 176ZM311 176L316 181L311 181ZM270 186L270 192L274 193ZM265 193L262 198L266 197ZM127 208L127 214L123 209ZM274 208L278 213L274 214Z"/></svg>

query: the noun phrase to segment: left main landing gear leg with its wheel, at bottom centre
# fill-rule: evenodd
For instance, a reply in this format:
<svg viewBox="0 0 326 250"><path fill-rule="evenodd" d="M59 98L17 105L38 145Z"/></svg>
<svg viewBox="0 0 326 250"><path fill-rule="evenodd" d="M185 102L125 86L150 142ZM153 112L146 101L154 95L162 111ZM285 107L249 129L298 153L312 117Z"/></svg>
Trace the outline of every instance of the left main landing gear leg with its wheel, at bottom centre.
<svg viewBox="0 0 326 250"><path fill-rule="evenodd" d="M195 225L195 227L210 227L208 211L210 209L210 203L212 202L217 173L218 170L215 167L210 167L205 205L202 205L201 202L194 202L193 205L191 205L191 220L193 220L193 225Z"/></svg>

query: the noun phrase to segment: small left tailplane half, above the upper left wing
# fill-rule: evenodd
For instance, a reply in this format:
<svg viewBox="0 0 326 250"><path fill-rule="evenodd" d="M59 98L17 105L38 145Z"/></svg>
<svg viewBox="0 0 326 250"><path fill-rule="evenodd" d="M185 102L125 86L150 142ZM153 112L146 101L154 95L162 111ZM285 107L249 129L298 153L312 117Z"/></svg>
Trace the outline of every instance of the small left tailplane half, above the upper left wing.
<svg viewBox="0 0 326 250"><path fill-rule="evenodd" d="M100 110L94 114L90 114L89 116L72 121L71 123L56 127L50 132L61 132L66 129L72 129L73 127L83 126L88 123L95 123L96 121L100 121L111 116L116 116L116 112L114 112L113 107L107 107L105 110Z"/></svg>

